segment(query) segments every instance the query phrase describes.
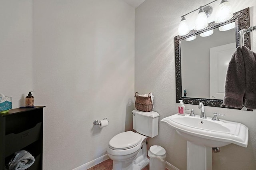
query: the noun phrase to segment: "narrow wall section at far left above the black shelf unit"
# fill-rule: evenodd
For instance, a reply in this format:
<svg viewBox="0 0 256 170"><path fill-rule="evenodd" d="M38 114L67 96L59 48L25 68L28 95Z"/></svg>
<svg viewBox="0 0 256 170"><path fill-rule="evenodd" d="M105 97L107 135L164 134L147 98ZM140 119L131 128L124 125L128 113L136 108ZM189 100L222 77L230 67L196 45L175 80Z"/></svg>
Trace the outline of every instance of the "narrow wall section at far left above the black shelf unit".
<svg viewBox="0 0 256 170"><path fill-rule="evenodd" d="M32 0L2 0L0 5L0 92L12 108L25 106L33 91Z"/></svg>

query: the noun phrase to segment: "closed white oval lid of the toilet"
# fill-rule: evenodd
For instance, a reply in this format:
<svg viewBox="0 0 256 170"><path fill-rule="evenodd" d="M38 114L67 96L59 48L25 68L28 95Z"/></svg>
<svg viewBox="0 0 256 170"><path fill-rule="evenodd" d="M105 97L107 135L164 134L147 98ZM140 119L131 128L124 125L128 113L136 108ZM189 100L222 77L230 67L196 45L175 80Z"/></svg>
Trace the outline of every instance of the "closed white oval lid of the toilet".
<svg viewBox="0 0 256 170"><path fill-rule="evenodd" d="M114 150L132 148L141 142L142 136L132 131L122 132L109 141L109 147Z"/></svg>

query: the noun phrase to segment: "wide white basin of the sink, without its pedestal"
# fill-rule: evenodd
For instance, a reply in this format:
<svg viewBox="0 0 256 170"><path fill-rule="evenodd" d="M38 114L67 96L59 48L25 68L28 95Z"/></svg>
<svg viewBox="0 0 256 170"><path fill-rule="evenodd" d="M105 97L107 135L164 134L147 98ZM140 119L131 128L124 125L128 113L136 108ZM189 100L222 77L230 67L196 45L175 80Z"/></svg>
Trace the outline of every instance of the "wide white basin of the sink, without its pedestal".
<svg viewBox="0 0 256 170"><path fill-rule="evenodd" d="M186 140L198 145L215 148L233 143L246 148L248 144L248 128L241 123L178 114L166 117L161 122L167 123Z"/></svg>

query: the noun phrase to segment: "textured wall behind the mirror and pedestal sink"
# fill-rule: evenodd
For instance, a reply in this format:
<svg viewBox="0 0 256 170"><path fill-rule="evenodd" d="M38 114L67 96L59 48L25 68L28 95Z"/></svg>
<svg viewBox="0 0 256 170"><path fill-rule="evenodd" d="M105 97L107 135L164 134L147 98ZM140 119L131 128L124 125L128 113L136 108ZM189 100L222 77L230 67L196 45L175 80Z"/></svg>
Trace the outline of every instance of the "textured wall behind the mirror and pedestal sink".
<svg viewBox="0 0 256 170"><path fill-rule="evenodd" d="M160 120L177 113L174 37L178 35L181 16L210 0L146 0L135 10L135 91L152 92L154 111ZM252 0L230 0L234 12L250 7L250 23L256 25L256 3ZM218 5L220 2L212 4ZM214 7L215 9L215 7ZM194 12L196 13L196 12ZM214 14L213 14L214 15ZM186 17L188 20L190 16ZM256 32L252 33L252 50L256 51ZM198 106L186 105L199 114ZM213 153L213 170L254 170L256 167L256 111L239 111L206 107L206 115L225 113L224 119L243 123L249 128L248 147L230 144ZM166 149L166 160L186 170L186 140L168 125L159 123L158 136L149 139L149 146L158 144Z"/></svg>

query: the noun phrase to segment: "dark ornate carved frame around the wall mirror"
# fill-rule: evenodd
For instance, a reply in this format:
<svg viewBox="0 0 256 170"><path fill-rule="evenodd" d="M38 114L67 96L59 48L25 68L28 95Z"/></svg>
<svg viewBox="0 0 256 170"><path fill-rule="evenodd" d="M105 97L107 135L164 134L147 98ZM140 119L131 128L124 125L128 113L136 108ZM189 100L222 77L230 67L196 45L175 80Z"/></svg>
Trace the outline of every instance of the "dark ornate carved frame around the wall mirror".
<svg viewBox="0 0 256 170"><path fill-rule="evenodd" d="M222 23L214 23L211 22L208 27L204 28L203 30L191 30L185 36L176 36L174 37L175 43L175 65L176 65L176 103L179 103L179 100L183 100L185 104L192 104L198 105L200 101L204 103L205 106L212 106L212 107L224 107L230 109L236 109L232 107L227 107L223 104L223 100L221 99L204 99L204 98L190 98L190 97L182 97L182 83L181 83L181 47L180 41L186 38L195 36L202 32L206 32L208 30L212 30L214 28L218 28L220 26L229 24L231 22L235 22L235 32L236 32L236 47L239 46L239 35L238 32L241 29L247 29L250 26L250 14L249 8L245 8L244 10L238 11L234 13L233 18L226 22ZM250 49L250 33L244 34L244 45Z"/></svg>

